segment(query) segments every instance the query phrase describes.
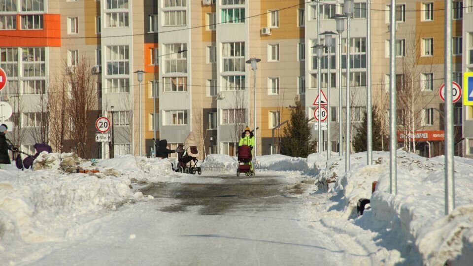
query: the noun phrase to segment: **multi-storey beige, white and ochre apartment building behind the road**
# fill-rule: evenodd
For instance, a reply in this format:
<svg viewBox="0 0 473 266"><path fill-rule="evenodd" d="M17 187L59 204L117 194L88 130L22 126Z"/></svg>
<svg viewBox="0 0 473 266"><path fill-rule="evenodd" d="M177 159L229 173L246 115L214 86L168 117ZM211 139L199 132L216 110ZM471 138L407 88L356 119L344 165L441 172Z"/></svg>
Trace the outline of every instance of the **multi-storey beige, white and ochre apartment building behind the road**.
<svg viewBox="0 0 473 266"><path fill-rule="evenodd" d="M372 100L385 111L389 3L373 1L371 12ZM38 95L51 93L49 80L72 69L69 67L84 56L97 78L93 115L113 121L115 156L138 155L140 151L150 155L155 137L157 141L167 139L169 148L175 149L190 131L203 142L205 154L233 156L244 127L255 128L255 100L257 154L277 153L295 97L302 100L307 117L314 117L317 61L311 47L318 43L318 24L320 33L336 31L331 17L341 14L342 6L343 0L0 0L0 34L9 36L0 45L0 64L9 77L0 94L12 105L20 97L23 102L37 101ZM463 55L471 54L471 8L463 8L463 1L454 1L454 7L453 69L455 80L462 84L462 72L473 66L467 64L471 60L462 60ZM424 156L439 155L443 141L429 138L429 134L443 130L443 105L438 97L443 79L443 1L398 1L396 10L397 87L417 92L412 104L412 110L417 110L414 129L427 135L416 139L417 150ZM350 102L355 126L362 122L366 110L366 16L366 1L355 0L350 31ZM330 44L331 69L327 51L321 63L325 95L331 80L331 135L323 131L320 141L324 150L330 143L331 149L338 151L340 119L345 127L346 33L345 26L341 43L335 36ZM324 37L320 36L320 42L325 43ZM261 59L256 78L245 63L250 58ZM28 66L40 71L26 71ZM342 106L338 105L340 67ZM135 73L138 70L144 71L141 81ZM11 97L14 93L17 96ZM14 116L20 118L11 120L28 130L38 113L34 106L27 104L19 112L21 116ZM342 117L338 116L340 108ZM460 140L461 125L469 123L473 111L466 108L463 120L462 105L457 103L455 108L456 139ZM407 124L413 113L403 113L403 109L407 108L398 110L399 124ZM310 127L317 139L314 122L310 121ZM401 127L400 136L403 130ZM459 142L457 154L463 150L468 154L472 149L473 135L467 137L467 130L463 133L467 139ZM22 147L32 153L34 139L28 137ZM399 137L400 146L404 140ZM107 158L109 143L95 144L94 157Z"/></svg>

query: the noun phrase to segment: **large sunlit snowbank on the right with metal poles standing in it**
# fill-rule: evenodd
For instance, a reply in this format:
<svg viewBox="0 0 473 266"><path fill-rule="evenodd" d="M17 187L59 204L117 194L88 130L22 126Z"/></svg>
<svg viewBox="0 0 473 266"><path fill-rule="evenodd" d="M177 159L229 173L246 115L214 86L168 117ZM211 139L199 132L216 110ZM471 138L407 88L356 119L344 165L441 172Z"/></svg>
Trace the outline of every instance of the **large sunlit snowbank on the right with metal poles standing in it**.
<svg viewBox="0 0 473 266"><path fill-rule="evenodd" d="M320 170L319 188L338 195L347 218L356 218L358 199L371 199L371 210L355 223L380 234L388 229L390 238L400 237L407 264L443 265L456 260L471 265L473 160L455 158L457 208L444 216L444 157L424 158L402 150L397 155L397 195L389 193L389 152L373 152L371 166L366 152L352 154L348 173L344 158L331 158ZM372 194L374 181L378 183Z"/></svg>

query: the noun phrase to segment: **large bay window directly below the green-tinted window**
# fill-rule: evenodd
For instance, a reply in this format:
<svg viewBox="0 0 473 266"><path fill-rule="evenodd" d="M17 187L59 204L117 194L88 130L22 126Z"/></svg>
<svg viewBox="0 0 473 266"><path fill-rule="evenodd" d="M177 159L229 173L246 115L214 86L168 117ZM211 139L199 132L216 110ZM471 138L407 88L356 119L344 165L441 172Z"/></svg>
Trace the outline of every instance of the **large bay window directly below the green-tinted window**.
<svg viewBox="0 0 473 266"><path fill-rule="evenodd" d="M223 71L245 71L245 43L222 43Z"/></svg>

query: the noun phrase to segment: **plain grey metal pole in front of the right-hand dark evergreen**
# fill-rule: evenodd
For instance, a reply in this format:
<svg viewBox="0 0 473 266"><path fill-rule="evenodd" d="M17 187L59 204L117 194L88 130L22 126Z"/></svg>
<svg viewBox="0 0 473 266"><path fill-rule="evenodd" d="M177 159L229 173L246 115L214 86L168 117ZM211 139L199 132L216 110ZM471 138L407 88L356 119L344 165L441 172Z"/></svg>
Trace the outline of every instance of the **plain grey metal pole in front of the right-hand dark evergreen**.
<svg viewBox="0 0 473 266"><path fill-rule="evenodd" d="M366 1L366 146L367 164L372 164L373 133L372 133L372 103L371 103L371 0Z"/></svg>

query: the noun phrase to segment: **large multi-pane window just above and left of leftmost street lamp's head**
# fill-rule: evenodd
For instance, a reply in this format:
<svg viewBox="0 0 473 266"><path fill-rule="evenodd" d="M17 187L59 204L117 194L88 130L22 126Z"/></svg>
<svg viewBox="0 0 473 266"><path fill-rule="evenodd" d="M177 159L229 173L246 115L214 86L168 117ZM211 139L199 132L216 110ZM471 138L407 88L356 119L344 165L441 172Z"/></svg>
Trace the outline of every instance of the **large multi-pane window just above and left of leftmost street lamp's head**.
<svg viewBox="0 0 473 266"><path fill-rule="evenodd" d="M107 75L130 74L130 52L128 45L106 46Z"/></svg>

